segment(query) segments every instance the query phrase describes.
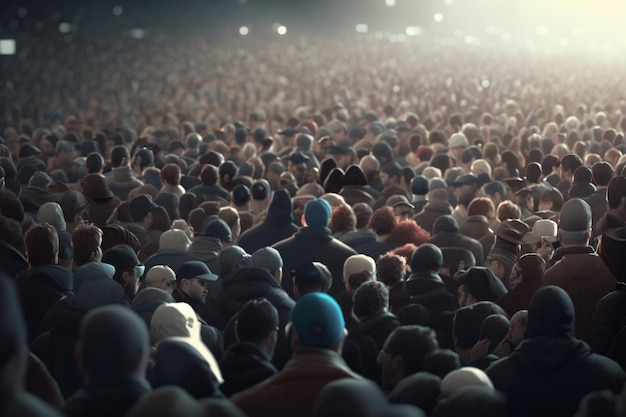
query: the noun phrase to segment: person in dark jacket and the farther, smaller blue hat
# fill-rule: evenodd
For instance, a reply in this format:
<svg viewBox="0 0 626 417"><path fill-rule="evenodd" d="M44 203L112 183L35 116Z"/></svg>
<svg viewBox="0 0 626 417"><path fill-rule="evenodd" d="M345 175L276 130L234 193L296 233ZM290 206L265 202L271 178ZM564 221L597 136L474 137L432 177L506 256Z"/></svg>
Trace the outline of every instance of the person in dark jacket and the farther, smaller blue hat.
<svg viewBox="0 0 626 417"><path fill-rule="evenodd" d="M343 264L348 257L356 255L356 252L332 237L328 228L330 214L330 204L326 200L316 198L309 201L304 207L306 227L272 247L280 252L286 271L292 271L306 261L317 261L326 265L333 277L329 294L336 296L343 288L340 278ZM289 296L293 296L292 280L283 280L282 286Z"/></svg>

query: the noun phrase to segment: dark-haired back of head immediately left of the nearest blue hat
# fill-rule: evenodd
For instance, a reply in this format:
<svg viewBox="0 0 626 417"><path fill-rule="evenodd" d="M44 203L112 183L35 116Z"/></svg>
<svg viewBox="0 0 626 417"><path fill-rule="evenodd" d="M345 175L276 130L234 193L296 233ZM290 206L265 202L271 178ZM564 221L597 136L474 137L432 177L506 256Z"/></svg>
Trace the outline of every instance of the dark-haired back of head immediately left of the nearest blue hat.
<svg viewBox="0 0 626 417"><path fill-rule="evenodd" d="M239 310L235 327L239 341L261 343L278 331L278 310L266 298L250 300Z"/></svg>

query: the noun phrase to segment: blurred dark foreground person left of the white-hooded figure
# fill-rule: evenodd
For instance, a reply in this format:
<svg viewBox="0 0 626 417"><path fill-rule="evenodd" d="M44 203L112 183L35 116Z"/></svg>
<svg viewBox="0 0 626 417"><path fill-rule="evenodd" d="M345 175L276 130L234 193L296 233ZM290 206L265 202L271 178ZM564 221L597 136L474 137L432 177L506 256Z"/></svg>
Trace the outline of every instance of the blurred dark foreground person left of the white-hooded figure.
<svg viewBox="0 0 626 417"><path fill-rule="evenodd" d="M151 391L145 379L150 336L143 321L123 306L89 312L81 323L77 362L83 387L67 400L68 417L124 415Z"/></svg>

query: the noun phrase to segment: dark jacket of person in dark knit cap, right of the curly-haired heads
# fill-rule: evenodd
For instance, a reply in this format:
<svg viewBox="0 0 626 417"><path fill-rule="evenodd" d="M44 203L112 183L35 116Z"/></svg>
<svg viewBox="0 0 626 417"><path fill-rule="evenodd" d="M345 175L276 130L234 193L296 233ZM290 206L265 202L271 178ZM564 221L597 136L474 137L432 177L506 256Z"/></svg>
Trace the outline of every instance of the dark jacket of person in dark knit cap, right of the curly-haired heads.
<svg viewBox="0 0 626 417"><path fill-rule="evenodd" d="M397 312L406 305L416 303L424 306L430 314L454 311L459 307L439 274L431 271L411 274L407 281L401 281L389 289L391 311Z"/></svg>

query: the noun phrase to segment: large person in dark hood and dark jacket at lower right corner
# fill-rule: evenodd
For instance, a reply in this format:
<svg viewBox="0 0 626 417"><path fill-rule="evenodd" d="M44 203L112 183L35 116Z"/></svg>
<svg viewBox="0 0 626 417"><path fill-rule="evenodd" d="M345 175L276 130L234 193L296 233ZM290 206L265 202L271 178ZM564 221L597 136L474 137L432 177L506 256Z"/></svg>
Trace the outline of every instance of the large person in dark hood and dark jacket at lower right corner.
<svg viewBox="0 0 626 417"><path fill-rule="evenodd" d="M626 374L619 365L591 353L575 337L575 315L572 299L563 289L553 285L539 289L528 306L528 340L487 369L514 415L569 417L586 394L622 389Z"/></svg>

